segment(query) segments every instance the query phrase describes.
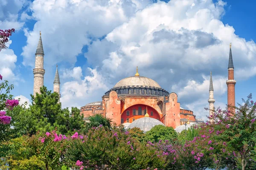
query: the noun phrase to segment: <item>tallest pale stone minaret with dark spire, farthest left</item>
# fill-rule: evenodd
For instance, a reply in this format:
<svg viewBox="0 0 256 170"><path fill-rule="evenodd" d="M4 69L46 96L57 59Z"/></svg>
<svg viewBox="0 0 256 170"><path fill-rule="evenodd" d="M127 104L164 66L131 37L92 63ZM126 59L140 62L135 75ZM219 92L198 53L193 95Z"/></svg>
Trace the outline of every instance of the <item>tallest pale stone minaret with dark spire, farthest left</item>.
<svg viewBox="0 0 256 170"><path fill-rule="evenodd" d="M41 39L41 31L40 37L38 41L38 46L35 52L35 69L33 69L34 73L34 90L33 95L36 93L40 94L40 87L44 86L44 49L43 43Z"/></svg>

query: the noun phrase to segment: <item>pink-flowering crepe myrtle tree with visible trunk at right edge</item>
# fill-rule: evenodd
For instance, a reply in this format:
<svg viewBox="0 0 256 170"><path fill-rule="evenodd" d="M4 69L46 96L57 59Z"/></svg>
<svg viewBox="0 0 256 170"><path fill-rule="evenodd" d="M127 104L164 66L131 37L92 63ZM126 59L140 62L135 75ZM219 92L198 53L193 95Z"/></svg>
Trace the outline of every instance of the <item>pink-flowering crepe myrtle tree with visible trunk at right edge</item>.
<svg viewBox="0 0 256 170"><path fill-rule="evenodd" d="M210 122L215 131L221 132L219 139L233 150L239 166L245 170L248 162L256 156L256 102L252 100L252 94L242 101L238 107L229 105L226 110L216 109ZM236 113L230 112L233 108Z"/></svg>

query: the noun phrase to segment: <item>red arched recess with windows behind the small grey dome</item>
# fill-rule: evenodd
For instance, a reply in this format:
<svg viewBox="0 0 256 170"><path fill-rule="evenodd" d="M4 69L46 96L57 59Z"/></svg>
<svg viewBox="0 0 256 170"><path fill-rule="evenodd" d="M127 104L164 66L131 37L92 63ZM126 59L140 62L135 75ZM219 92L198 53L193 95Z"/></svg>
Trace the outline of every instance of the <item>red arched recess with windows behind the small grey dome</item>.
<svg viewBox="0 0 256 170"><path fill-rule="evenodd" d="M157 112L157 110L154 109L153 107L150 107L150 106L145 105L145 104L135 104L133 106L128 107L127 109L125 109L122 112L121 120L124 121L123 123L128 123L127 120L129 119L129 123L131 123L134 119L137 120L139 118L143 118L145 116L144 115L144 110L146 108L148 108L149 117L155 118L155 119L158 119L159 121L161 121L161 114L159 112ZM134 110L136 110L135 115L134 115ZM127 111L130 112L129 115L126 114ZM141 111L143 113L140 115ZM151 114L151 112L153 112L153 114Z"/></svg>

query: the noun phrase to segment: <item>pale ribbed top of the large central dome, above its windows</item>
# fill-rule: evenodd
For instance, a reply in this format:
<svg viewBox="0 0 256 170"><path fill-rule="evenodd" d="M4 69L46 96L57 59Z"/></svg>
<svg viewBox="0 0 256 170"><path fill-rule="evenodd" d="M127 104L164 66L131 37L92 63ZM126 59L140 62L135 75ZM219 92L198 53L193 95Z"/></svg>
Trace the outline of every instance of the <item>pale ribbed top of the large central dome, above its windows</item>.
<svg viewBox="0 0 256 170"><path fill-rule="evenodd" d="M143 76L131 76L128 78L123 78L113 88L116 87L125 87L125 86L140 86L140 87L157 87L161 88L161 86L152 80L151 78L146 78Z"/></svg>

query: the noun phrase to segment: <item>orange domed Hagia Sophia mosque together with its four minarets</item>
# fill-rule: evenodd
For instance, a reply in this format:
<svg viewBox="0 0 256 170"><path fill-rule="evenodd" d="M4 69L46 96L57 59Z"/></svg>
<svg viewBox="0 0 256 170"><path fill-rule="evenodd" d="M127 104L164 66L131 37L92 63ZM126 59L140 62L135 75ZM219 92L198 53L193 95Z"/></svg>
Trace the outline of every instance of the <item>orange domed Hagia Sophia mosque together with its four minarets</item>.
<svg viewBox="0 0 256 170"><path fill-rule="evenodd" d="M34 92L40 93L44 85L44 50L41 32L35 53ZM235 106L234 67L230 43L227 80L227 104ZM58 67L56 68L53 82L53 91L60 96L60 80ZM215 99L213 97L212 72L209 84L209 115L212 115ZM234 111L234 110L233 110ZM139 74L138 67L135 75L123 78L113 88L102 96L102 101L85 104L80 109L80 114L86 119L93 114L102 114L111 118L116 125L123 124L126 128L140 127L144 132L157 124L173 127L176 131L183 130L187 124L204 122L197 119L192 110L183 109L178 102L175 92L169 93L156 81ZM184 128L185 126L185 128ZM189 126L188 126L189 127Z"/></svg>

